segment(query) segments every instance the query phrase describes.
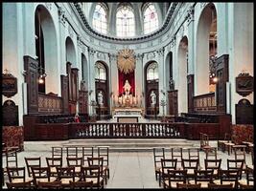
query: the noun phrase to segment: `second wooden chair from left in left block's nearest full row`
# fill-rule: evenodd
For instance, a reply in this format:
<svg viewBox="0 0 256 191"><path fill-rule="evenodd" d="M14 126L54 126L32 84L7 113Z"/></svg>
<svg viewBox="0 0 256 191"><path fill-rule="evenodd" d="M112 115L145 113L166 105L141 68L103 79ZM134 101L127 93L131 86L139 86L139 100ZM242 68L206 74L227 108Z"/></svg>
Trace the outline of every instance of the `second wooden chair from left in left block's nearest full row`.
<svg viewBox="0 0 256 191"><path fill-rule="evenodd" d="M53 182L56 181L57 178L51 177L50 168L49 167L35 167L32 168L32 175L35 187L38 186L38 181L40 182Z"/></svg>

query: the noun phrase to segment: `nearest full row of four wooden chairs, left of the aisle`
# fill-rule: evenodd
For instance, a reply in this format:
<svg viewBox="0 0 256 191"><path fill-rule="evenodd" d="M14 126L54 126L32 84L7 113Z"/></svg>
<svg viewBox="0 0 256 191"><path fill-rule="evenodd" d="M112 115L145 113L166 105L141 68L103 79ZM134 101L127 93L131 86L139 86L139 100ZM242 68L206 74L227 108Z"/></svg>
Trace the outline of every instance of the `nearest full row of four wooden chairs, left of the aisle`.
<svg viewBox="0 0 256 191"><path fill-rule="evenodd" d="M80 186L104 188L103 173L100 166L81 167L81 174L77 176L75 167L57 167L57 177L52 177L49 167L32 167L32 179L26 179L25 167L8 167L10 182L7 182L8 188L29 187L61 187L72 188L74 182Z"/></svg>

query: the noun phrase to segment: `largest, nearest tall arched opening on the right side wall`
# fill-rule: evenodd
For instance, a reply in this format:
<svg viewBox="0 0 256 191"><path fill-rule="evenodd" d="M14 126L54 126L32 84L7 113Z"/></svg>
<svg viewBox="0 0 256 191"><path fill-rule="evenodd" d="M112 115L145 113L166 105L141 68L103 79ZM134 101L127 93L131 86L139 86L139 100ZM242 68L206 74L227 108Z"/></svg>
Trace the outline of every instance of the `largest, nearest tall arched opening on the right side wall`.
<svg viewBox="0 0 256 191"><path fill-rule="evenodd" d="M214 4L210 3L203 9L198 21L196 96L215 92L217 37L217 12Z"/></svg>

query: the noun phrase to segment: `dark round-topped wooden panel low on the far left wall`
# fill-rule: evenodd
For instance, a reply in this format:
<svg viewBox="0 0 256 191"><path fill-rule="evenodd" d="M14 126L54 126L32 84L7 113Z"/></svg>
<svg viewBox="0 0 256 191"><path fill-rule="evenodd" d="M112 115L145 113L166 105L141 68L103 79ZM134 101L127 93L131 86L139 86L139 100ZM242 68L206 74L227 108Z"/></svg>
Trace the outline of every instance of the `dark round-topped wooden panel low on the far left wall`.
<svg viewBox="0 0 256 191"><path fill-rule="evenodd" d="M18 106L12 100L6 100L3 109L3 125L18 126Z"/></svg>

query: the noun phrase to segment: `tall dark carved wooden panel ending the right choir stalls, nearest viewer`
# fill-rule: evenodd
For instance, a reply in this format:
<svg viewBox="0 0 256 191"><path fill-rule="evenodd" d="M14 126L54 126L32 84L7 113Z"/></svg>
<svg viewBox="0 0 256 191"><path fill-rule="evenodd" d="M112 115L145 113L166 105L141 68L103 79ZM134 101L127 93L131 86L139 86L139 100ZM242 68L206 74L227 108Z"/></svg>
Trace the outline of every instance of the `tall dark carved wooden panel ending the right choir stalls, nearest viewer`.
<svg viewBox="0 0 256 191"><path fill-rule="evenodd" d="M226 82L228 81L228 54L223 54L216 59L216 105L217 111L226 113Z"/></svg>

